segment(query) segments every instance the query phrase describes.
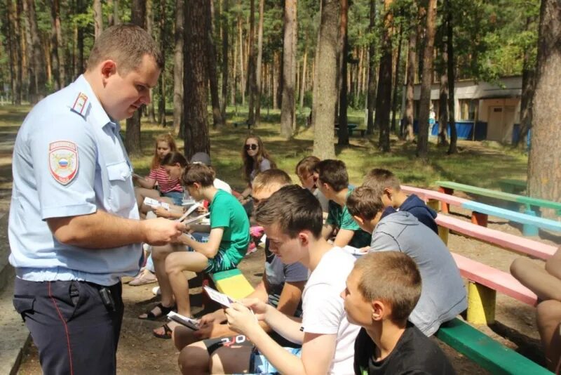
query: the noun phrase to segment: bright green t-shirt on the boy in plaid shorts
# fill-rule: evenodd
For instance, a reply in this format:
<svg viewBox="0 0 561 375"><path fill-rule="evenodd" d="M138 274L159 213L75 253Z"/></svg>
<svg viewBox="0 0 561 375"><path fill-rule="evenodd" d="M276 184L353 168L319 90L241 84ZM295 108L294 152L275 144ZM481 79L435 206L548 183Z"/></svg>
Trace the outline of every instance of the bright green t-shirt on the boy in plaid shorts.
<svg viewBox="0 0 561 375"><path fill-rule="evenodd" d="M210 228L224 228L218 251L226 254L236 265L248 251L250 221L243 206L234 195L218 190L208 207Z"/></svg>

